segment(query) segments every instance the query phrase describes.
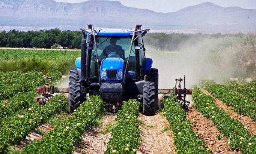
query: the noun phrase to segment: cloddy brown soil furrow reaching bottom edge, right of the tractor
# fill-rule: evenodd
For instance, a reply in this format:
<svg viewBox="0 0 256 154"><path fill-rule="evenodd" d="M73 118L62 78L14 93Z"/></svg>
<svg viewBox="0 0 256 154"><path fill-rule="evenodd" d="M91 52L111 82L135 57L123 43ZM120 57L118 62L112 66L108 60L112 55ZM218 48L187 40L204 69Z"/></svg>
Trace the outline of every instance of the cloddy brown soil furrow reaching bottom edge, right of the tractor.
<svg viewBox="0 0 256 154"><path fill-rule="evenodd" d="M206 142L206 148L212 150L213 154L239 154L238 151L231 151L229 141L227 138L222 137L220 140L216 138L216 135L220 134L217 127L211 120L203 117L202 113L195 108L189 108L187 113L187 119L193 121L193 131L196 132L203 141Z"/></svg>

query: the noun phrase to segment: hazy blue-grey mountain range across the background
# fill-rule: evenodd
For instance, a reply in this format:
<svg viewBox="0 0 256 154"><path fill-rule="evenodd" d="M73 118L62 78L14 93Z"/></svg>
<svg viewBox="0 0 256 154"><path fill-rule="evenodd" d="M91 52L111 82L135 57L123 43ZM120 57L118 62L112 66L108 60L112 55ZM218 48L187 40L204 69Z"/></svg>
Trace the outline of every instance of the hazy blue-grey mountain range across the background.
<svg viewBox="0 0 256 154"><path fill-rule="evenodd" d="M152 29L256 30L256 10L202 3L177 12L161 13L123 6L119 1L90 0L60 3L54 0L1 0L0 25Z"/></svg>

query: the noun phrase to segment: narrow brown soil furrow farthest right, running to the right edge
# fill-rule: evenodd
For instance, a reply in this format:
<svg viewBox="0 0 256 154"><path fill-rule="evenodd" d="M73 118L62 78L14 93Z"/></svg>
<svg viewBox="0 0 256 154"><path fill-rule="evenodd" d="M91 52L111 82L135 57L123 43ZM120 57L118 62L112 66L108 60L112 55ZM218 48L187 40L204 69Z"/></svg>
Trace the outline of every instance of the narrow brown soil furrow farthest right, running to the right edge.
<svg viewBox="0 0 256 154"><path fill-rule="evenodd" d="M203 93L206 95L212 96L208 91L201 89ZM251 132L252 135L256 135L256 122L253 121L251 118L240 115L232 110L231 107L224 104L222 101L220 101L218 98L214 97L214 103L220 108L221 110L225 111L230 117L236 118L238 121L240 121L244 126L247 127L247 130Z"/></svg>

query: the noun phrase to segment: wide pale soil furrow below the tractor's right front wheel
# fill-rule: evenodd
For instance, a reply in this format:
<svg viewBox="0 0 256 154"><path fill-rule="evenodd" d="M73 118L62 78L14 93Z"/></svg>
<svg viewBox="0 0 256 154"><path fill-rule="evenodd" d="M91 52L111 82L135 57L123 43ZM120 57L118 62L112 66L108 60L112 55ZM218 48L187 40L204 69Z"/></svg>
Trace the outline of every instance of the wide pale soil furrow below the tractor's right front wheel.
<svg viewBox="0 0 256 154"><path fill-rule="evenodd" d="M137 154L175 154L173 133L166 118L161 114L139 115L143 122L140 146Z"/></svg>

